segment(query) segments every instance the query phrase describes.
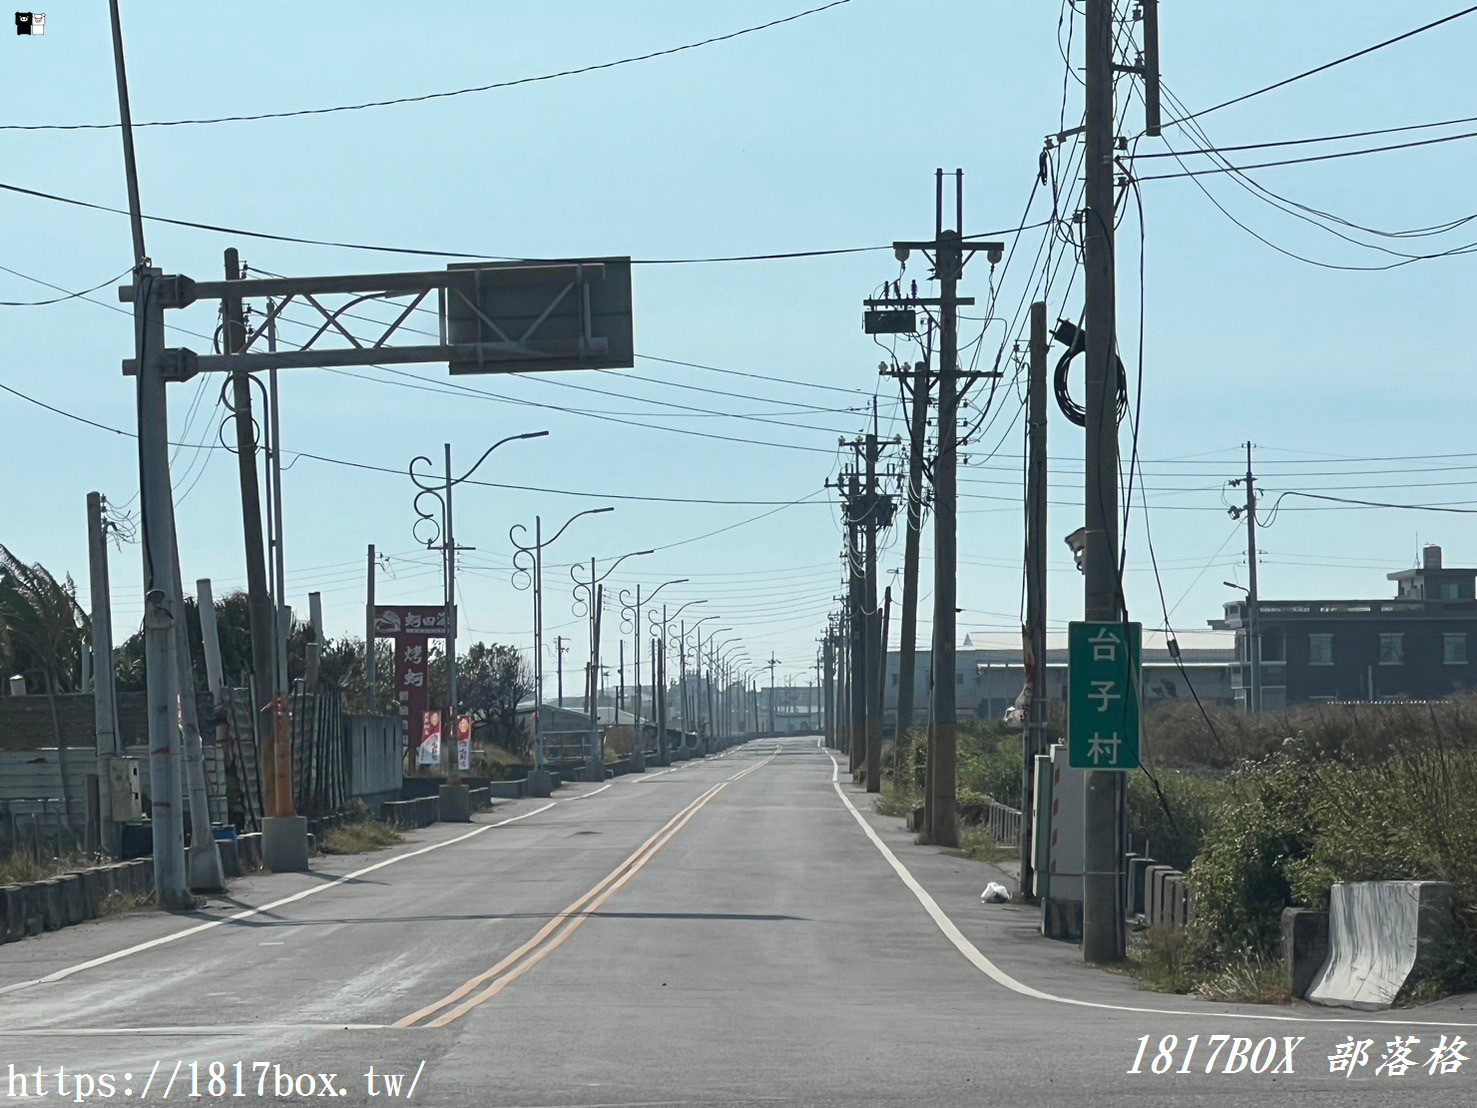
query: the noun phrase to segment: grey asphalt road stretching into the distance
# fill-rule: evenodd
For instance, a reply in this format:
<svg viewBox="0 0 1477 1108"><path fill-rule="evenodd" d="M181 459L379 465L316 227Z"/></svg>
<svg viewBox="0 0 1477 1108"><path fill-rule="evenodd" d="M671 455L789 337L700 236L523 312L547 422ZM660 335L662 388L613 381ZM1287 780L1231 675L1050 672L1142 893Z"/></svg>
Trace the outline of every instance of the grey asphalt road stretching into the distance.
<svg viewBox="0 0 1477 1108"><path fill-rule="evenodd" d="M0 1102L19 1075L47 1104L1473 1102L1477 1061L1425 1065L1443 1034L1477 1043L1477 1006L1140 993L981 904L998 878L914 845L814 737L761 740L245 879L192 916L3 945ZM1331 1074L1350 1036L1368 1065ZM1415 1065L1377 1075L1396 1036ZM1236 1039L1248 1064L1223 1073Z"/></svg>

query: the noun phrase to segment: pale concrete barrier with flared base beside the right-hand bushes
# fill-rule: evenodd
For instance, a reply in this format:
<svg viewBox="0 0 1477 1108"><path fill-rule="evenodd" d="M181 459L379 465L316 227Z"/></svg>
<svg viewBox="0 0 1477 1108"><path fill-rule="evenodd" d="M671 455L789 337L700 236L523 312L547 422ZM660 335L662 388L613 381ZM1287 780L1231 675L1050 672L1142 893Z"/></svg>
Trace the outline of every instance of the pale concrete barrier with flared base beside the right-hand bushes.
<svg viewBox="0 0 1477 1108"><path fill-rule="evenodd" d="M1450 940L1452 886L1442 880L1360 880L1329 891L1328 960L1307 999L1369 1012L1439 965Z"/></svg>

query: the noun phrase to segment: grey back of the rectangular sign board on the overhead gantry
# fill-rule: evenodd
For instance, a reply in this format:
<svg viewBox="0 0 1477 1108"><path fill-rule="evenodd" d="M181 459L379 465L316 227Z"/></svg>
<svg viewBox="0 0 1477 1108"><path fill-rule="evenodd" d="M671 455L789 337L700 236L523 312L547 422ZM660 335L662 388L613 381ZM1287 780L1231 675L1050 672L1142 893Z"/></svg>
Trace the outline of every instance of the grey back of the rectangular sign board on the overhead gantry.
<svg viewBox="0 0 1477 1108"><path fill-rule="evenodd" d="M629 369L631 259L448 266L442 321L453 374Z"/></svg>

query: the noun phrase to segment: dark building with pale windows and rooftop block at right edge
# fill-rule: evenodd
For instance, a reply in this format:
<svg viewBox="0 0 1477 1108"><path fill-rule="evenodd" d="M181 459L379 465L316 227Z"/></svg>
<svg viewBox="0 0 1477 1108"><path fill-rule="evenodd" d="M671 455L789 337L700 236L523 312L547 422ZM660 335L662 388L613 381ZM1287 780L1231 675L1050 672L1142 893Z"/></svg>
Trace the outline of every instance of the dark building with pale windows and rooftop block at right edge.
<svg viewBox="0 0 1477 1108"><path fill-rule="evenodd" d="M1310 700L1430 700L1477 688L1477 569L1442 564L1425 547L1421 566L1387 575L1393 600L1263 600L1261 706ZM1219 631L1236 632L1232 691L1245 705L1247 601L1226 604Z"/></svg>

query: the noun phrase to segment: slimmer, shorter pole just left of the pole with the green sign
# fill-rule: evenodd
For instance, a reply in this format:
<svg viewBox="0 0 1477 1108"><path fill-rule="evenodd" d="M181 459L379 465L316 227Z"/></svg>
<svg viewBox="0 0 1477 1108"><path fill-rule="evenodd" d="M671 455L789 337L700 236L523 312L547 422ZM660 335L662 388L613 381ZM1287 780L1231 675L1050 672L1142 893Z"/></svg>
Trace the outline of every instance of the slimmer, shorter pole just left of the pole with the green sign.
<svg viewBox="0 0 1477 1108"><path fill-rule="evenodd" d="M1027 493L1025 493L1025 647L1027 724L1025 764L1021 773L1021 891L1031 892L1035 866L1031 841L1035 813L1035 756L1046 753L1046 304L1031 304L1031 366L1027 387Z"/></svg>

